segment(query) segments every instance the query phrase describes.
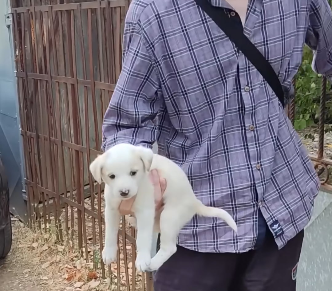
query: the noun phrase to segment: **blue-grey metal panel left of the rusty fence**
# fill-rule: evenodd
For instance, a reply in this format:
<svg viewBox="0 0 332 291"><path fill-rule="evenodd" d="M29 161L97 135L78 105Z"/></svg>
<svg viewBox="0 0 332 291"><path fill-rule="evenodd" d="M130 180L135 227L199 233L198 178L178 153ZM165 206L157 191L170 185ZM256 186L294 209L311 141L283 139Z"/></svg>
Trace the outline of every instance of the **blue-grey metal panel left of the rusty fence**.
<svg viewBox="0 0 332 291"><path fill-rule="evenodd" d="M0 1L0 153L5 166L11 212L26 220L23 143L14 66L11 15L7 1Z"/></svg>

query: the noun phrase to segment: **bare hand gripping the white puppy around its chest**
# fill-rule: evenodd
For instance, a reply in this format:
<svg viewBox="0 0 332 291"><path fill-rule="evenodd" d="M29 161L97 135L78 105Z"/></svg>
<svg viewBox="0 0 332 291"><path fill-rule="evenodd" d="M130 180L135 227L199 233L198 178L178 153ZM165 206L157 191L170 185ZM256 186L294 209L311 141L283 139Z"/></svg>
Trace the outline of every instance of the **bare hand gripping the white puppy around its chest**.
<svg viewBox="0 0 332 291"><path fill-rule="evenodd" d="M154 203L156 205L156 214L155 216L160 216L161 211L163 210L163 194L166 189L166 180L164 178L160 178L157 170L151 170L150 172L150 180L154 186ZM136 199L136 196L128 199L123 200L120 204L120 214L121 215L127 215L131 214L133 215L131 208L132 204L134 203Z"/></svg>

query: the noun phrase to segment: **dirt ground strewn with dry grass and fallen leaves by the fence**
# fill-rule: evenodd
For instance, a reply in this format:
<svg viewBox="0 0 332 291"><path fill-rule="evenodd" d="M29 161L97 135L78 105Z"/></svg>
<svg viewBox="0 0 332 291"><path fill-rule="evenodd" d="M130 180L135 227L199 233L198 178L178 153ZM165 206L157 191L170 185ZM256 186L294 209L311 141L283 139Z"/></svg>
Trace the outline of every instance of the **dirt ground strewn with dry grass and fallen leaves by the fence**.
<svg viewBox="0 0 332 291"><path fill-rule="evenodd" d="M47 231L28 228L12 218L13 244L8 256L0 260L1 291L112 291L128 290L124 265L124 246L120 241L119 261L106 268L103 279L100 254L94 262L85 260L71 244L59 243L52 226ZM127 258L131 246L125 247ZM93 252L89 250L91 255ZM97 265L96 265L97 264ZM133 264L128 261L127 276L132 282ZM141 291L144 280L135 273L136 290ZM145 276L144 276L145 277ZM132 286L132 285L130 285ZM131 288L130 288L131 289Z"/></svg>

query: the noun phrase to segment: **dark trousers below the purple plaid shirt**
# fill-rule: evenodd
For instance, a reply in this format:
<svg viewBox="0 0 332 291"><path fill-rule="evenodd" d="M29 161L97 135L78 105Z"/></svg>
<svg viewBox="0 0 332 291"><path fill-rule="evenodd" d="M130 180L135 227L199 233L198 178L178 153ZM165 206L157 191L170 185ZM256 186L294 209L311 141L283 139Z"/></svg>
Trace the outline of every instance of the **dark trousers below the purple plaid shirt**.
<svg viewBox="0 0 332 291"><path fill-rule="evenodd" d="M303 230L278 250L267 230L257 250L199 253L179 247L154 275L154 291L295 291Z"/></svg>

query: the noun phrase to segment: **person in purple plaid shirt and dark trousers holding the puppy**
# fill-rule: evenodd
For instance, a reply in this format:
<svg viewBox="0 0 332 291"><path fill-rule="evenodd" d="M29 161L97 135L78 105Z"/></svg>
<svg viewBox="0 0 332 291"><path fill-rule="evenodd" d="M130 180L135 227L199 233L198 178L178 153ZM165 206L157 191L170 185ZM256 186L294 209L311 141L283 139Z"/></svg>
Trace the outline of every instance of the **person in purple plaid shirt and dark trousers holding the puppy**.
<svg viewBox="0 0 332 291"><path fill-rule="evenodd" d="M285 91L304 42L314 70L332 75L327 0L207 1L243 25ZM294 291L319 181L276 94L194 0L132 0L123 48L103 150L157 142L197 197L238 225L234 234L220 220L194 217L154 290Z"/></svg>

